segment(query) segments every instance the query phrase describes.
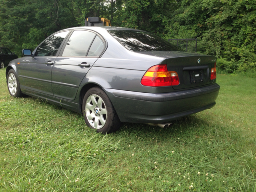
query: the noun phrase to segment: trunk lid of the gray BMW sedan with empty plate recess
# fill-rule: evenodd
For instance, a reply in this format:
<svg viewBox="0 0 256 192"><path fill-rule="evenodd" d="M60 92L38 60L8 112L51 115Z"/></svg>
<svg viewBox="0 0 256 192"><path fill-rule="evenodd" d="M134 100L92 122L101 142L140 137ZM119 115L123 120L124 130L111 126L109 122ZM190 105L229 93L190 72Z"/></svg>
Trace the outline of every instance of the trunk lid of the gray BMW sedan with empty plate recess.
<svg viewBox="0 0 256 192"><path fill-rule="evenodd" d="M188 52L140 52L165 58L161 64L166 64L168 71L178 74L180 84L173 89L188 89L212 84L211 69L214 68L216 57Z"/></svg>

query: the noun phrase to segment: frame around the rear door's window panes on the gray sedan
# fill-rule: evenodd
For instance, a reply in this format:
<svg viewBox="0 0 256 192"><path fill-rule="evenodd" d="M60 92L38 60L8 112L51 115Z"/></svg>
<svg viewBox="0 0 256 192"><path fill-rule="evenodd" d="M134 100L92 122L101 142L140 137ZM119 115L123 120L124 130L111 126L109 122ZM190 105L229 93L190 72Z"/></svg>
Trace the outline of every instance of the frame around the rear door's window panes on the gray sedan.
<svg viewBox="0 0 256 192"><path fill-rule="evenodd" d="M74 31L89 31L89 32L92 32L92 33L96 34L96 35L94 36L94 38L93 38L93 40L92 40L92 42L91 42L91 44L90 44L90 46L89 46L87 52L86 52L86 56L62 56L62 54L63 54L63 52L64 52L64 49L65 49L65 47L66 47L66 46L64 46L64 45L67 44L69 38L71 37L71 35L73 34ZM99 38L102 40L102 42L103 42L103 44L104 44L104 49L103 49L103 51L100 53L100 56L87 56L87 55L88 55L88 52L89 52L89 50L90 50L90 48L91 48L91 46L92 46L92 43L93 43L94 39L96 38L96 36L99 36ZM64 41L63 41L63 42L64 42ZM88 29L74 29L74 30L72 30L72 32L70 32L70 34L67 36L67 38L66 38L66 40L65 40L65 42L64 42L64 44L63 44L63 46L62 46L62 49L61 49L61 51L60 51L60 53L59 53L59 55L58 55L58 57L80 57L80 58L87 57L87 58L100 58L100 57L104 54L104 52L106 51L107 48L108 48L108 42L107 42L100 34L98 34L96 31L94 31L94 30L88 30Z"/></svg>

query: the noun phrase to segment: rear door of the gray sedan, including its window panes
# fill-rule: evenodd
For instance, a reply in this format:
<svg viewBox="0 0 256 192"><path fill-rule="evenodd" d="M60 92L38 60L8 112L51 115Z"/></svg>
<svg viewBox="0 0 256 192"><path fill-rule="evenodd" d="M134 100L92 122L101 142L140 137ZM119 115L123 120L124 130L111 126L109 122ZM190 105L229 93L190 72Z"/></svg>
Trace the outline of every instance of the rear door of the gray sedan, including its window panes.
<svg viewBox="0 0 256 192"><path fill-rule="evenodd" d="M54 96L74 100L78 87L105 48L104 39L89 30L74 30L52 68Z"/></svg>

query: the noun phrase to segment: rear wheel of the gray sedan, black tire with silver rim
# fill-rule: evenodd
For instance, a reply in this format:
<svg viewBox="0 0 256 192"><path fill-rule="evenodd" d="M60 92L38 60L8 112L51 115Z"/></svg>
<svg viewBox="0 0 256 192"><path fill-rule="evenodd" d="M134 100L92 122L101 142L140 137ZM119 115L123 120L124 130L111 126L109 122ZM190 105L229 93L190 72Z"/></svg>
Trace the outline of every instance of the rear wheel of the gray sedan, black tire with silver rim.
<svg viewBox="0 0 256 192"><path fill-rule="evenodd" d="M94 104L92 98L95 98ZM96 107L95 104L97 104ZM98 133L106 134L120 128L121 122L116 114L116 110L107 94L100 87L92 87L86 92L82 109L86 124L90 128L96 129ZM91 119L90 122L89 119Z"/></svg>

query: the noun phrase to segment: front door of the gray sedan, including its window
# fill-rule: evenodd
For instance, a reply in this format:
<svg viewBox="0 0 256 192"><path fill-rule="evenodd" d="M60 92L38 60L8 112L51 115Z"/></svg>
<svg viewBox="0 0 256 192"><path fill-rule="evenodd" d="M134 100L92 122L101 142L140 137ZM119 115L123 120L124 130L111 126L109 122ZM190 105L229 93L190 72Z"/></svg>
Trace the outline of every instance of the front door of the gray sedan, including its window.
<svg viewBox="0 0 256 192"><path fill-rule="evenodd" d="M38 46L33 57L26 59L22 67L26 89L53 95L52 65L69 32L68 30L53 34Z"/></svg>

